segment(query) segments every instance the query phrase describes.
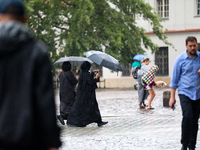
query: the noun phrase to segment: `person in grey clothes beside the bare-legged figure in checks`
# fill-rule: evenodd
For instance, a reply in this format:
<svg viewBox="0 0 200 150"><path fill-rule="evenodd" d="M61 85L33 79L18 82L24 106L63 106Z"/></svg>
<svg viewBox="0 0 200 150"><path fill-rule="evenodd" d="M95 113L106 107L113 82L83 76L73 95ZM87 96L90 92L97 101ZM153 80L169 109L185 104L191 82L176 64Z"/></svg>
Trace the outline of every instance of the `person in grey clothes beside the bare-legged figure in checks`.
<svg viewBox="0 0 200 150"><path fill-rule="evenodd" d="M149 58L142 58L141 68L138 71L138 101L139 101L139 108L146 107L145 100L149 96L148 90L144 89L144 86L141 83L141 78L144 73L146 73L148 69L148 65L150 63Z"/></svg>

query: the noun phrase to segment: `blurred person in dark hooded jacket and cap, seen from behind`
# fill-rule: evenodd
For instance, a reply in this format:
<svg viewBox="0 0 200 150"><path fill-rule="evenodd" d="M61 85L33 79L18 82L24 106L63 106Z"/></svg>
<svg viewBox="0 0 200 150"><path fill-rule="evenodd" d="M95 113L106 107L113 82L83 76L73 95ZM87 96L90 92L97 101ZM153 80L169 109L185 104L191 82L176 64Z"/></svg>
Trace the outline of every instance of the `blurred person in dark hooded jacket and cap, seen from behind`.
<svg viewBox="0 0 200 150"><path fill-rule="evenodd" d="M19 0L0 2L0 149L58 150L47 48L24 25L24 9Z"/></svg>

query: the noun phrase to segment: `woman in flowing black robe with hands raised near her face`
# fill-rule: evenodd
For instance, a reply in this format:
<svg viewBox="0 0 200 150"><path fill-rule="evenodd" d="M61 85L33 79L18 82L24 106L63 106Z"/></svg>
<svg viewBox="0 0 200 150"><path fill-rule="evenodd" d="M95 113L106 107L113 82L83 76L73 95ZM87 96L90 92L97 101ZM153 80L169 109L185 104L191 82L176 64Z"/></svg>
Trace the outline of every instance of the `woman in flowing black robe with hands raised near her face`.
<svg viewBox="0 0 200 150"><path fill-rule="evenodd" d="M85 127L90 123L97 123L98 126L102 126L108 123L102 121L96 100L95 89L100 73L94 71L90 74L90 67L91 64L88 61L81 65L82 71L78 81L76 100L67 119L68 126Z"/></svg>

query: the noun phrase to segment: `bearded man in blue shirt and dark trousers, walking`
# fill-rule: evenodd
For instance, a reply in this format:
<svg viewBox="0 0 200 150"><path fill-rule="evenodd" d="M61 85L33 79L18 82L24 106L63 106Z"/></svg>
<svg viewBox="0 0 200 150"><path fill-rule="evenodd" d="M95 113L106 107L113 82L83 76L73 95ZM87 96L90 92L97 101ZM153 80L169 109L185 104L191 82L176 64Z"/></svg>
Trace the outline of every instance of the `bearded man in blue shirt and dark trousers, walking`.
<svg viewBox="0 0 200 150"><path fill-rule="evenodd" d="M187 37L186 48L174 63L169 106L173 108L176 103L175 91L178 88L183 115L181 150L195 150L200 115L200 52L197 51L196 37Z"/></svg>

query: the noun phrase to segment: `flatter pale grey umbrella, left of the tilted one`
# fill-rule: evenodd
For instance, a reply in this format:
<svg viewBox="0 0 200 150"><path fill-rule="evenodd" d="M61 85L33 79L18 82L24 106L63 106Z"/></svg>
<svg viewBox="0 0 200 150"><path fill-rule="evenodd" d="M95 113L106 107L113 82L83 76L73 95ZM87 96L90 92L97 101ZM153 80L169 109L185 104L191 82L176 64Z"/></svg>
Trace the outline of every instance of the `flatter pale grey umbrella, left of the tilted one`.
<svg viewBox="0 0 200 150"><path fill-rule="evenodd" d="M88 61L91 64L93 63L90 59L85 57L69 56L69 57L61 57L53 65L62 66L63 62L65 61L69 61L71 63L71 66L80 66L84 61Z"/></svg>

